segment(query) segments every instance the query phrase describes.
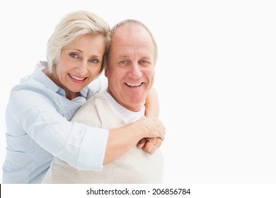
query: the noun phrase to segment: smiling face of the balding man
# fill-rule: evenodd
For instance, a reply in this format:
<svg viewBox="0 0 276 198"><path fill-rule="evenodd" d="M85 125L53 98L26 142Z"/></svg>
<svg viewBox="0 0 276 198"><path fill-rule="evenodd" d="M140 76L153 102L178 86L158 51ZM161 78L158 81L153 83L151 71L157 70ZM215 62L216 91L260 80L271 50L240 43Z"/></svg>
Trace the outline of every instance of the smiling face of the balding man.
<svg viewBox="0 0 276 198"><path fill-rule="evenodd" d="M128 23L117 28L110 45L108 92L117 103L139 111L154 83L154 43L141 26Z"/></svg>

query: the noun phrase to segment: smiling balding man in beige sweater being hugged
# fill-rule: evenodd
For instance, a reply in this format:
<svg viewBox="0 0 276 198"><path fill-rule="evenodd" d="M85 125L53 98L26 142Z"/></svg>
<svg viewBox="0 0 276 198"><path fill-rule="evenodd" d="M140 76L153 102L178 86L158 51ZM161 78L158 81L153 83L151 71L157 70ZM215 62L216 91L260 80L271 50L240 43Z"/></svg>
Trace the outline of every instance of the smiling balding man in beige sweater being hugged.
<svg viewBox="0 0 276 198"><path fill-rule="evenodd" d="M111 32L105 76L108 88L89 99L73 122L112 129L144 116L144 101L154 83L157 47L146 26L134 20L122 21ZM123 136L118 141L125 141ZM108 145L110 148L113 145ZM55 158L45 177L46 183L161 183L163 157L160 149L153 155L134 146L114 158L100 172L81 171ZM112 149L110 149L112 150ZM113 156L113 153L108 153ZM117 155L114 155L117 156Z"/></svg>

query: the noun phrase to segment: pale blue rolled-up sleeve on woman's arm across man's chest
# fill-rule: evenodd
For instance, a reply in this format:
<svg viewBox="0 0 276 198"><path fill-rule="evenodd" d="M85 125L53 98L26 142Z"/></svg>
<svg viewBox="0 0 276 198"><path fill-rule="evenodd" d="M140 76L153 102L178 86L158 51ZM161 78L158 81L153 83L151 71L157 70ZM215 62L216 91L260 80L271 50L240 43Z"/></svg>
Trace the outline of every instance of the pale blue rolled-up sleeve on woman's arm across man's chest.
<svg viewBox="0 0 276 198"><path fill-rule="evenodd" d="M38 145L79 170L103 168L108 130L67 121L40 94L15 94L8 104L9 116Z"/></svg>

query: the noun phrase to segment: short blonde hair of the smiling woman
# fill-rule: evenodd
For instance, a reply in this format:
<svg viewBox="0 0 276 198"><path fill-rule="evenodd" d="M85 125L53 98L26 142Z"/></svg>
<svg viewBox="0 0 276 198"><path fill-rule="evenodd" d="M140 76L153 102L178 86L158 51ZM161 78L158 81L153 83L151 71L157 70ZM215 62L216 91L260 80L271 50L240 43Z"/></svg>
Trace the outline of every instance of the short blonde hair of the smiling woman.
<svg viewBox="0 0 276 198"><path fill-rule="evenodd" d="M63 47L70 45L81 35L103 35L105 38L105 52L110 45L110 26L102 18L88 11L75 11L62 18L54 29L54 33L47 42L47 62L50 73L59 60ZM106 64L105 55L99 74Z"/></svg>

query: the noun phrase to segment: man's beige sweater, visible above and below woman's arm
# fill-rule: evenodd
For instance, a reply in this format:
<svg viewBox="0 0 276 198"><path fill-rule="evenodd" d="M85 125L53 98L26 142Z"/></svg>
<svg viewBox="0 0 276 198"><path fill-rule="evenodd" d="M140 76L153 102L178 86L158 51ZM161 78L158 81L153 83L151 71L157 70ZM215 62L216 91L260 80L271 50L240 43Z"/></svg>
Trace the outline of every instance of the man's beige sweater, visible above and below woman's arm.
<svg viewBox="0 0 276 198"><path fill-rule="evenodd" d="M101 95L90 98L76 112L72 122L103 129L125 125ZM76 170L59 158L54 158L42 183L162 183L162 175L163 156L160 149L151 156L134 146L117 161L105 165L102 171Z"/></svg>

